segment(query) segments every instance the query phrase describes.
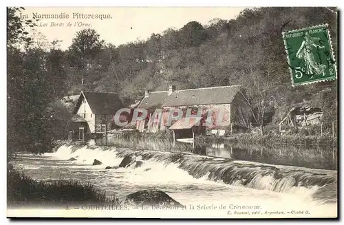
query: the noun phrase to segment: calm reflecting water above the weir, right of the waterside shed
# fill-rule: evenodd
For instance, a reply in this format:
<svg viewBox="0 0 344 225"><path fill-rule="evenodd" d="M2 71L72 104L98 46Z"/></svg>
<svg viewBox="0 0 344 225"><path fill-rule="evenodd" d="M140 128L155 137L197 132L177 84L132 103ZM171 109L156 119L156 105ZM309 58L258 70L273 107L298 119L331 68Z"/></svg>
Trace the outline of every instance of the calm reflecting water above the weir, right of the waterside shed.
<svg viewBox="0 0 344 225"><path fill-rule="evenodd" d="M250 145L236 143L198 143L193 153L202 156L231 158L268 164L314 169L337 169L337 147L300 145Z"/></svg>

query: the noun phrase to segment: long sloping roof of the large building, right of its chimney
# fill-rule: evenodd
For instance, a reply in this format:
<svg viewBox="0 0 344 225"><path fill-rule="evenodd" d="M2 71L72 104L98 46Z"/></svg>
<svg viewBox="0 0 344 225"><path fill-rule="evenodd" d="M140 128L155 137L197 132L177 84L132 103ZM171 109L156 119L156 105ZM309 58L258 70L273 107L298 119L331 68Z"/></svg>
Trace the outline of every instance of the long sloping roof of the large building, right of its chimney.
<svg viewBox="0 0 344 225"><path fill-rule="evenodd" d="M241 85L176 90L163 106L208 105L232 103Z"/></svg>

